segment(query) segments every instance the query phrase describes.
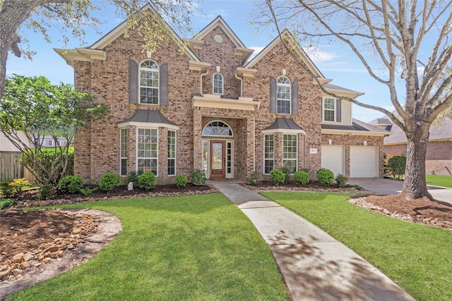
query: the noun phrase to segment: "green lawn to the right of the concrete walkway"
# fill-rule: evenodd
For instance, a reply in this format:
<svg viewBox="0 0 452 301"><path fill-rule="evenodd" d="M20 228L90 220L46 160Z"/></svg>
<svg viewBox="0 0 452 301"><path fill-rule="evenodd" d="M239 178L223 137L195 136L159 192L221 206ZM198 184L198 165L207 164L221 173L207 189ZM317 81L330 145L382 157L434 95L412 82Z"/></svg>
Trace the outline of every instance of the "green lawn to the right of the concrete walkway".
<svg viewBox="0 0 452 301"><path fill-rule="evenodd" d="M452 231L392 219L350 195L264 192L383 271L416 300L452 300Z"/></svg>

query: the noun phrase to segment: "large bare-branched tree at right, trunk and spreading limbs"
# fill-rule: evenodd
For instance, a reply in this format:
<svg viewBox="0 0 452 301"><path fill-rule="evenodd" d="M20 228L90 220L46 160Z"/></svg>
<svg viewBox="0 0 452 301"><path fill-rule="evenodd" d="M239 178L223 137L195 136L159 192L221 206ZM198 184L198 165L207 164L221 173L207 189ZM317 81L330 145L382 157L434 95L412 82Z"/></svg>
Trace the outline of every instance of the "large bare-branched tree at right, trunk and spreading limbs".
<svg viewBox="0 0 452 301"><path fill-rule="evenodd" d="M265 1L258 25L290 28L292 35L311 45L340 42L353 51L369 75L386 85L396 113L351 97L338 99L385 113L403 129L408 140L407 165L402 194L406 199L432 196L425 182L425 156L429 128L452 103L452 2L391 0ZM280 35L281 36L281 35ZM281 37L294 59L295 47ZM429 51L428 57L422 53ZM299 61L299 60L298 60ZM311 75L309 68L299 61ZM319 83L319 79L314 76ZM396 80L404 84L396 90Z"/></svg>

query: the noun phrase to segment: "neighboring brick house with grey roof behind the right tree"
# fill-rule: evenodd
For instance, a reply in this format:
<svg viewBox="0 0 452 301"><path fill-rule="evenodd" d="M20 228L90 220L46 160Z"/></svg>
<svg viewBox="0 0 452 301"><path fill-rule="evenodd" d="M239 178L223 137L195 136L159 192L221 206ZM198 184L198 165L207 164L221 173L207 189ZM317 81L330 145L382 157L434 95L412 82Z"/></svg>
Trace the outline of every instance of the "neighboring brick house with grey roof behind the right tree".
<svg viewBox="0 0 452 301"><path fill-rule="evenodd" d="M384 138L384 152L391 156L407 155L407 137L398 125L389 118L378 118L371 124L390 130L393 135ZM452 171L452 120L445 118L444 123L431 125L429 144L425 158L425 172L436 175L447 175Z"/></svg>

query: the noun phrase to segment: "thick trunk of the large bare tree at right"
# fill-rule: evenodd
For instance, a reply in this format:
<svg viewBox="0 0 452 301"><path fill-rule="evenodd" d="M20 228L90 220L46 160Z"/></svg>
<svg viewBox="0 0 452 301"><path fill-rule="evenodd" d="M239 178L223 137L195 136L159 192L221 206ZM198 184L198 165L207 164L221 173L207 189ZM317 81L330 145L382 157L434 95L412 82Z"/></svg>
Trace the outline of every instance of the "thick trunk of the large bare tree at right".
<svg viewBox="0 0 452 301"><path fill-rule="evenodd" d="M430 125L422 121L419 123L419 126L415 126L412 135L407 135L407 166L401 194L405 195L408 200L422 197L433 199L427 191L425 180L425 158L427 156Z"/></svg>

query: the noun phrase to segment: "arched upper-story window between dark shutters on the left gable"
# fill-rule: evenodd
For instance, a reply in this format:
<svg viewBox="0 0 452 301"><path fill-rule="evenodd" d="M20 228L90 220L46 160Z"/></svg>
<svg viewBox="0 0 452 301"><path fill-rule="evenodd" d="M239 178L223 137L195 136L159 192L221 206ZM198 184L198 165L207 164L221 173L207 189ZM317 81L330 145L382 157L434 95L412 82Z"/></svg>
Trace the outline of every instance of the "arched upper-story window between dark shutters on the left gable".
<svg viewBox="0 0 452 301"><path fill-rule="evenodd" d="M140 103L158 104L158 65L146 60L140 65Z"/></svg>

